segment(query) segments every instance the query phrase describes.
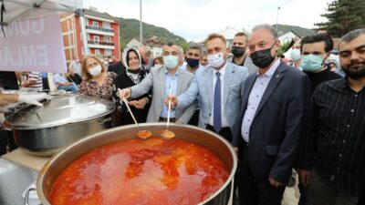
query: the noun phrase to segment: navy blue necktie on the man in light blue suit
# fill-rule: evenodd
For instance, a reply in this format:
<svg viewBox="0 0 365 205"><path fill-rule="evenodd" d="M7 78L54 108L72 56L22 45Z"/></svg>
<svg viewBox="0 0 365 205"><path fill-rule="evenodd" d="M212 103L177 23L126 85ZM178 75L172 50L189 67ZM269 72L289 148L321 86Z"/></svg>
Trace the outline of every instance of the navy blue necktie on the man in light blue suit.
<svg viewBox="0 0 365 205"><path fill-rule="evenodd" d="M215 76L217 81L214 87L214 108L213 108L213 128L216 132L222 129L222 116L221 116L221 73L216 72Z"/></svg>

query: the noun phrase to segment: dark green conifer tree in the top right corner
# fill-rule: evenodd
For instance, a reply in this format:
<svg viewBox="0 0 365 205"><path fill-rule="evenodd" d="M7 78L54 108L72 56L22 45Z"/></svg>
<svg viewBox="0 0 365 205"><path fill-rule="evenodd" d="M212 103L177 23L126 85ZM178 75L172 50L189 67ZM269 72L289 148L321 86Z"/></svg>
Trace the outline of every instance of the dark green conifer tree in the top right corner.
<svg viewBox="0 0 365 205"><path fill-rule="evenodd" d="M328 22L315 24L317 30L326 30L333 37L341 37L349 31L365 27L364 0L334 0L328 4Z"/></svg>

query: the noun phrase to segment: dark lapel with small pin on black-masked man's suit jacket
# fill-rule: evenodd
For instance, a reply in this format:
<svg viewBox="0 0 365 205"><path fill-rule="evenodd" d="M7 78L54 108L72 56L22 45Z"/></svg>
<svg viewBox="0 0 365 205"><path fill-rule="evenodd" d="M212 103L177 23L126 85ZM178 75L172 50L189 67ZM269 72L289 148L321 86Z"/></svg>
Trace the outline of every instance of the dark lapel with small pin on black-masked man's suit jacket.
<svg viewBox="0 0 365 205"><path fill-rule="evenodd" d="M277 85L279 85L280 81L283 79L284 74L282 73L285 70L284 67L282 67L282 63L277 67L276 71L274 72L273 76L270 79L270 82L268 83L266 90L264 92L263 97L261 98L260 103L258 104L258 108L255 112L256 115L260 112L260 110L264 107L266 104L267 99L273 94L274 90L276 89ZM255 119L254 117L254 119Z"/></svg>

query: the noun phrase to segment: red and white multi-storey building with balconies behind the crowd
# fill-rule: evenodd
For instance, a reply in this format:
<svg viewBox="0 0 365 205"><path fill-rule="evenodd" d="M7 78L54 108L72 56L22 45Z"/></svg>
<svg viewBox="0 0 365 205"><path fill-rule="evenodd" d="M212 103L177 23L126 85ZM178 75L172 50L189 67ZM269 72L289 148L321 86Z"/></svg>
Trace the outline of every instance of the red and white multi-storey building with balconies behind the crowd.
<svg viewBox="0 0 365 205"><path fill-rule="evenodd" d="M120 22L108 13L96 9L85 9L86 33L88 36L89 54L103 56L120 56ZM62 36L67 62L76 56L84 56L79 17L75 14L61 16Z"/></svg>

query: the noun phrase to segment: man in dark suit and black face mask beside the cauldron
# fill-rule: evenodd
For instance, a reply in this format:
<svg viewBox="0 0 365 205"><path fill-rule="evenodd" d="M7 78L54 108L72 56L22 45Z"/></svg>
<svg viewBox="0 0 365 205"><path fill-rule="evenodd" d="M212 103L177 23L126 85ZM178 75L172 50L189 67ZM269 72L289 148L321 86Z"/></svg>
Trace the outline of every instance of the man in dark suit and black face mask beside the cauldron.
<svg viewBox="0 0 365 205"><path fill-rule="evenodd" d="M310 81L276 57L276 30L255 26L248 41L258 72L245 81L233 145L240 149L240 204L280 205L304 135Z"/></svg>

